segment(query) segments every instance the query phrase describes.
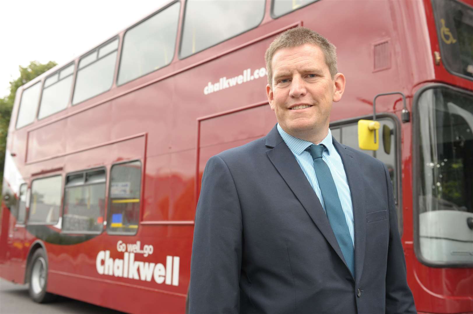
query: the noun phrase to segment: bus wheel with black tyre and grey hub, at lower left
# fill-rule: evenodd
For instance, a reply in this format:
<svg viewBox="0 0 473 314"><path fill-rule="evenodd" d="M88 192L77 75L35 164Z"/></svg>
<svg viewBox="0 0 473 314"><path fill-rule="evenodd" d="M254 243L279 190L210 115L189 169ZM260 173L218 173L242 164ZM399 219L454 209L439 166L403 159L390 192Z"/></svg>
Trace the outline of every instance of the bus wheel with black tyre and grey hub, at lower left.
<svg viewBox="0 0 473 314"><path fill-rule="evenodd" d="M30 297L38 303L53 301L56 297L46 292L48 281L48 262L43 249L37 249L31 258L29 278Z"/></svg>

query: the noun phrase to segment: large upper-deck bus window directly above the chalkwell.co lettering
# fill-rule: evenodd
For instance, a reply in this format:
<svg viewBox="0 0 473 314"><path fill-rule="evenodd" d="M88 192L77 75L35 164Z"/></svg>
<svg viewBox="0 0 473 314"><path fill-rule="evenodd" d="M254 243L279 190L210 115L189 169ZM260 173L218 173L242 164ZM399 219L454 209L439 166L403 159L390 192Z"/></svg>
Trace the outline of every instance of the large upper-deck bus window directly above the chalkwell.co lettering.
<svg viewBox="0 0 473 314"><path fill-rule="evenodd" d="M187 1L180 57L185 58L259 25L265 1Z"/></svg>

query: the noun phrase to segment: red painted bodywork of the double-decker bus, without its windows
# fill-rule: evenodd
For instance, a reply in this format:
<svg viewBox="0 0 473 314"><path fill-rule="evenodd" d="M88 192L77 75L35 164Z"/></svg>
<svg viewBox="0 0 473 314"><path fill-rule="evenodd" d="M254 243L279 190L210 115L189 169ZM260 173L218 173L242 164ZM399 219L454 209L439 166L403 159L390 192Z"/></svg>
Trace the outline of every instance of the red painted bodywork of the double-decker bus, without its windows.
<svg viewBox="0 0 473 314"><path fill-rule="evenodd" d="M430 82L473 90L471 82L434 65L438 39L430 1L320 0L276 19L270 16L271 1L267 2L263 22L256 28L182 60L176 51L167 67L120 86L114 83L105 93L17 130L19 95L34 82L18 89L7 148L16 154L16 167L28 188L37 178L61 175L62 213L66 176L103 168L106 221L112 167L140 161L140 220L135 235L109 234L111 221L101 233L87 235L64 232L59 222L27 224L26 231L19 227L15 231L11 241L17 246L13 242L3 246L10 241L15 217L2 204L3 278L24 281L28 247L41 239L49 263L48 291L131 313L183 313L205 163L222 150L265 136L274 126L265 94L264 51L280 32L304 25L335 44L339 71L347 77L342 101L333 104L331 123L369 117L378 93L406 94L410 122L401 122L403 102L397 95L378 98L376 110L392 114L399 125L398 210L403 212L408 283L419 311L473 311L472 268L432 268L414 253L412 97ZM473 5L471 0L465 2ZM181 18L183 10L184 2ZM177 47L179 41L178 35ZM5 176L3 195L15 195L6 187L9 179ZM15 251L21 241L23 249ZM133 252L144 246L152 246L153 253ZM12 255L19 262L15 271L10 271Z"/></svg>

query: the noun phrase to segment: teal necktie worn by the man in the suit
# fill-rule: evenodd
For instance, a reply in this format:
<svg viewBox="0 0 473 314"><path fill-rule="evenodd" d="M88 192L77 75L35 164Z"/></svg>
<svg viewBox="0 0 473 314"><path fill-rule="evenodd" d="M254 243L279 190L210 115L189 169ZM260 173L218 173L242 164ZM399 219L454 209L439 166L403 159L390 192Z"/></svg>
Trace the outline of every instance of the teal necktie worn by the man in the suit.
<svg viewBox="0 0 473 314"><path fill-rule="evenodd" d="M332 173L325 161L322 160L322 152L325 150L323 144L310 145L307 151L310 152L314 159L314 170L319 183L322 198L324 200L325 213L328 221L332 226L333 233L337 239L338 245L342 250L343 257L350 269L351 275L355 278L355 258L353 242L348 229L345 214L343 213L342 203L338 196L335 182L333 181Z"/></svg>

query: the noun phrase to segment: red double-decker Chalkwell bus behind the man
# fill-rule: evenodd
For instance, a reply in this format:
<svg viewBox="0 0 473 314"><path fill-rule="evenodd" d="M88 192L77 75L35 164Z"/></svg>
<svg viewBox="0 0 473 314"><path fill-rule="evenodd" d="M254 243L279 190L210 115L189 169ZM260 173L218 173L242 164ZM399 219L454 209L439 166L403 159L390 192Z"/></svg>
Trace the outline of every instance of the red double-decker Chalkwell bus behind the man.
<svg viewBox="0 0 473 314"><path fill-rule="evenodd" d="M366 152L393 181L418 311L473 311L472 0L175 0L25 84L1 277L37 302L183 313L205 163L274 126L263 55L299 25L337 46L347 77L333 136L359 147L375 107L381 143Z"/></svg>

